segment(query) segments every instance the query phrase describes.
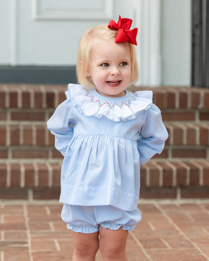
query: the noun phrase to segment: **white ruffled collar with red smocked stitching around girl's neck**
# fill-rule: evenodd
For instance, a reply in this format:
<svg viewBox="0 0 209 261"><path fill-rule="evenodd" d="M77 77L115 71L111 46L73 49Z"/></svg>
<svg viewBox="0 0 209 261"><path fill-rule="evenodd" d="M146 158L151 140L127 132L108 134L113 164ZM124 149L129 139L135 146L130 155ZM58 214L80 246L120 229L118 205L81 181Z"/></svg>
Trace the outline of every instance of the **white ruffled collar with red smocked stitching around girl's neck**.
<svg viewBox="0 0 209 261"><path fill-rule="evenodd" d="M96 89L87 90L78 84L68 84L65 94L86 116L106 116L113 121L134 119L137 112L149 109L152 104L152 91L126 91L123 97L112 98L100 95Z"/></svg>

